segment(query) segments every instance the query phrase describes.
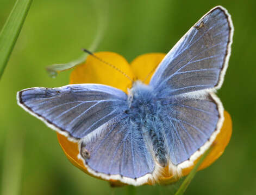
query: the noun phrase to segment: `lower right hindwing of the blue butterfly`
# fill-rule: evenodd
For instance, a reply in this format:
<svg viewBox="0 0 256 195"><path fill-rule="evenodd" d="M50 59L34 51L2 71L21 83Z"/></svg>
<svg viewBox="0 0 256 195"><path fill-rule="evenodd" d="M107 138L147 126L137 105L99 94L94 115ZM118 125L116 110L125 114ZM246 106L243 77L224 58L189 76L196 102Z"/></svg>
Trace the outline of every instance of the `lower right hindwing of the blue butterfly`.
<svg viewBox="0 0 256 195"><path fill-rule="evenodd" d="M222 123L222 105L214 94L200 99L176 97L164 100L164 122L168 156L179 165L200 150ZM210 141L213 141L211 138Z"/></svg>

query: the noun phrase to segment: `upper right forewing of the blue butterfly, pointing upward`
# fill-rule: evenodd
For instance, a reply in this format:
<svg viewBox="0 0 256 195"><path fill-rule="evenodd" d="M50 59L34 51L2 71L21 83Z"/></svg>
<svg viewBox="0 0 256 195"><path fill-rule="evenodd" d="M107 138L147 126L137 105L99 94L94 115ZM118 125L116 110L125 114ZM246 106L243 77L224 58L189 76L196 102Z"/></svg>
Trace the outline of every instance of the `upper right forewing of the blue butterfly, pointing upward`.
<svg viewBox="0 0 256 195"><path fill-rule="evenodd" d="M168 95L220 88L232 43L233 24L217 6L180 39L159 64L150 85Z"/></svg>

